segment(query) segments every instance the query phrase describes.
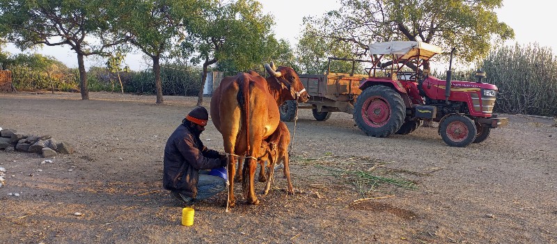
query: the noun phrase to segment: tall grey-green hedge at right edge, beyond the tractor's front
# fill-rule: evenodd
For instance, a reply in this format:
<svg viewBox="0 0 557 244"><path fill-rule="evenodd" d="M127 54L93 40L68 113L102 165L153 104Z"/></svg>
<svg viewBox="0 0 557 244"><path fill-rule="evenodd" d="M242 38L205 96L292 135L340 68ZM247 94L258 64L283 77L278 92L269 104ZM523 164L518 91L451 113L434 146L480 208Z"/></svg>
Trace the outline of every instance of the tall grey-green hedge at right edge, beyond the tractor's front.
<svg viewBox="0 0 557 244"><path fill-rule="evenodd" d="M490 51L481 66L489 83L499 88L497 111L557 115L557 57L551 48L501 47Z"/></svg>

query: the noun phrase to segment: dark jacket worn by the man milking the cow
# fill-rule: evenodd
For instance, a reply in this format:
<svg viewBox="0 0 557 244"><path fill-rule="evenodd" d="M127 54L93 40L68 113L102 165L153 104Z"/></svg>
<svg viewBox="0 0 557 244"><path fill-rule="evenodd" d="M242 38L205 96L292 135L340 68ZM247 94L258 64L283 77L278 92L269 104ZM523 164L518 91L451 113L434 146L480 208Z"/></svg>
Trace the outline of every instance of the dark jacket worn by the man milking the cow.
<svg viewBox="0 0 557 244"><path fill-rule="evenodd" d="M180 124L164 147L162 184L166 190L195 198L198 170L211 170L220 166L219 152L207 149L194 133Z"/></svg>

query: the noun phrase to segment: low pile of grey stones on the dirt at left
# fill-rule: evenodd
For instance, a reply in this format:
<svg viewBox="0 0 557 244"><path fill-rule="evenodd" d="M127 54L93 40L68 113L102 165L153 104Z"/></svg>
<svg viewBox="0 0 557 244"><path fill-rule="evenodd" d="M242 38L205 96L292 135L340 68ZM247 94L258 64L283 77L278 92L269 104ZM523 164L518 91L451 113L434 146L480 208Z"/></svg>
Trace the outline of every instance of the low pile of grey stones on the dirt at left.
<svg viewBox="0 0 557 244"><path fill-rule="evenodd" d="M33 136L17 133L13 129L0 128L0 149L6 152L20 151L33 152L43 157L52 157L58 154L72 154L73 147L68 143L58 143L52 136Z"/></svg>

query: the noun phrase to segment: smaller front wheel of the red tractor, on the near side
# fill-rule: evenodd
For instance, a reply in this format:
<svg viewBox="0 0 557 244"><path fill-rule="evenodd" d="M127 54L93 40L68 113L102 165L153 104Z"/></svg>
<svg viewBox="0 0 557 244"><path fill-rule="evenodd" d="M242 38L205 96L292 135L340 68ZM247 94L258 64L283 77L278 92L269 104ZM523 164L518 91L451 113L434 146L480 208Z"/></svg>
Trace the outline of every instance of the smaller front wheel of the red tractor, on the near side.
<svg viewBox="0 0 557 244"><path fill-rule="evenodd" d="M464 115L450 115L439 124L441 138L451 147L466 147L476 139L476 124Z"/></svg>

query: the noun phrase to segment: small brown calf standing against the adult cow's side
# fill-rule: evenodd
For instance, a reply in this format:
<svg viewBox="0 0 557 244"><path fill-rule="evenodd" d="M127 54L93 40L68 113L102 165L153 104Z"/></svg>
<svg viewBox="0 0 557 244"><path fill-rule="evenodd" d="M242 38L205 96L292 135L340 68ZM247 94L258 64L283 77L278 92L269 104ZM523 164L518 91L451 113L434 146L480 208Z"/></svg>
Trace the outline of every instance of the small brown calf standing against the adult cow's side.
<svg viewBox="0 0 557 244"><path fill-rule="evenodd" d="M292 188L292 182L290 181L288 144L290 144L290 131L288 131L288 127L286 127L286 124L282 121L279 122L274 133L261 143L258 157L261 165L259 181L267 181L263 195L269 193L269 188L271 188L271 183L273 181L274 165L278 165L281 161L284 163L283 174L288 184L288 193L294 195L294 188ZM265 161L269 161L269 165L267 165L269 168L267 174L265 174Z"/></svg>

